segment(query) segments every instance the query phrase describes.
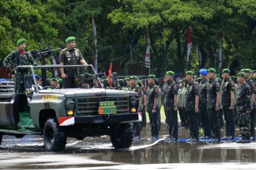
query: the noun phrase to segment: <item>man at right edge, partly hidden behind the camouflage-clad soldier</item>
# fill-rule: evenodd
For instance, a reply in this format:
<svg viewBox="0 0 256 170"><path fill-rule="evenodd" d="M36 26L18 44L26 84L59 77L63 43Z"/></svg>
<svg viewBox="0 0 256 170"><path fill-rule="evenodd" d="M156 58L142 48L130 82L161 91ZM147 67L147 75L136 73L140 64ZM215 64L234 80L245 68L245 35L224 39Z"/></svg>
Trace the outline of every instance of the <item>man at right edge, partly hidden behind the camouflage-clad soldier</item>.
<svg viewBox="0 0 256 170"><path fill-rule="evenodd" d="M246 83L251 87L252 97L251 97L251 140L255 140L255 106L254 106L254 100L255 100L255 94L256 94L256 86L255 82L251 80L251 70L250 69L243 69L241 72L244 72L246 74L245 81Z"/></svg>

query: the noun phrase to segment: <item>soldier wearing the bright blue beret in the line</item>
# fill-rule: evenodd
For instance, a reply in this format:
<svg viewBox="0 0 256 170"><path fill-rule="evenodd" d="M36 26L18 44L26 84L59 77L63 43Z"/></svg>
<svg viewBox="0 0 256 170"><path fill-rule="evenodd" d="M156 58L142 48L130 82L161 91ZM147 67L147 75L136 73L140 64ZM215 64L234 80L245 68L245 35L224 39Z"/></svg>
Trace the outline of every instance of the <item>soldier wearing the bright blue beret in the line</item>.
<svg viewBox="0 0 256 170"><path fill-rule="evenodd" d="M207 103L207 70L199 70L201 81L199 83L199 113L202 120L202 129L204 136L201 139L212 138L212 127L208 118L206 103Z"/></svg>

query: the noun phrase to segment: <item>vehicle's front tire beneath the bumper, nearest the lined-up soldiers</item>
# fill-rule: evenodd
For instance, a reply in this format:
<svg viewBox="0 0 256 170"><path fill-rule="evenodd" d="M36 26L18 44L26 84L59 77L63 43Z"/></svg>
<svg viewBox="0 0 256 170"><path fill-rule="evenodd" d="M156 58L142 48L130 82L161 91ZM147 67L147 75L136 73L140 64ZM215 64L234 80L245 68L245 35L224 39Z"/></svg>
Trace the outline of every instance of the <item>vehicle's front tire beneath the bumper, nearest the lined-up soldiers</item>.
<svg viewBox="0 0 256 170"><path fill-rule="evenodd" d="M130 148L133 141L133 124L120 124L119 128L110 135L110 140L116 149Z"/></svg>

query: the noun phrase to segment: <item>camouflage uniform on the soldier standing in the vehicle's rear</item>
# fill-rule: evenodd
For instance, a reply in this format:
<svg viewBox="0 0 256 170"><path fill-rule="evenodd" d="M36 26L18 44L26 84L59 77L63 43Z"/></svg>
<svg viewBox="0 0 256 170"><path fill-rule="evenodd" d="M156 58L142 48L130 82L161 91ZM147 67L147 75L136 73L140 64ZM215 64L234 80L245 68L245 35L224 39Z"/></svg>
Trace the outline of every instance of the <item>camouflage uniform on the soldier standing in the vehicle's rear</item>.
<svg viewBox="0 0 256 170"><path fill-rule="evenodd" d="M12 66L13 69L16 69L16 67L18 66L27 66L29 65L29 62L37 65L34 58L29 52L24 52L24 54L21 54L20 50L15 50L14 52L11 52L4 58L3 61L5 67ZM24 76L27 74L29 74L29 70L27 69L19 69L18 71L17 91L19 93L24 92Z"/></svg>

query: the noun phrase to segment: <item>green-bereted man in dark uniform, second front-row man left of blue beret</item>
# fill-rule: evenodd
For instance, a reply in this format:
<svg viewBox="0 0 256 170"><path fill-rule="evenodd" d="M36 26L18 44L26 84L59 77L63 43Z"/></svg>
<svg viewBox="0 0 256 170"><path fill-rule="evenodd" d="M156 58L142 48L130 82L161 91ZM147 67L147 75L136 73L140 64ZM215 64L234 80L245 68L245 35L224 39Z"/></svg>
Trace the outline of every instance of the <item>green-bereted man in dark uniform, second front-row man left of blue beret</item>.
<svg viewBox="0 0 256 170"><path fill-rule="evenodd" d="M178 139L178 117L177 117L177 95L178 87L173 80L174 72L168 71L166 75L165 103L166 114L170 118L169 138L166 141L176 141Z"/></svg>

